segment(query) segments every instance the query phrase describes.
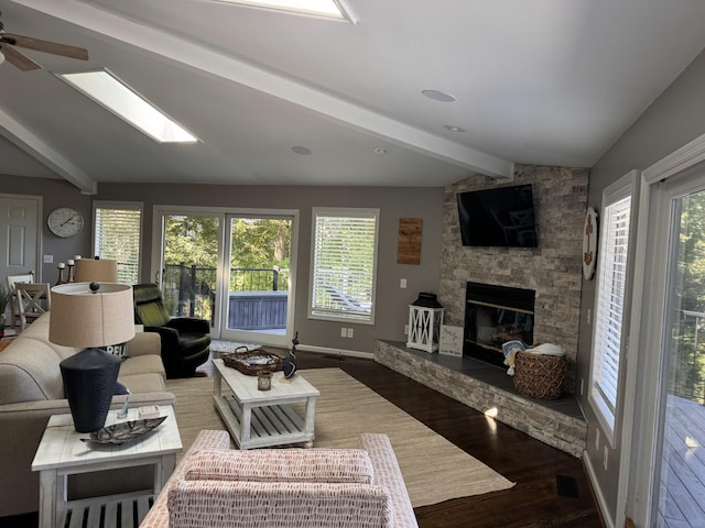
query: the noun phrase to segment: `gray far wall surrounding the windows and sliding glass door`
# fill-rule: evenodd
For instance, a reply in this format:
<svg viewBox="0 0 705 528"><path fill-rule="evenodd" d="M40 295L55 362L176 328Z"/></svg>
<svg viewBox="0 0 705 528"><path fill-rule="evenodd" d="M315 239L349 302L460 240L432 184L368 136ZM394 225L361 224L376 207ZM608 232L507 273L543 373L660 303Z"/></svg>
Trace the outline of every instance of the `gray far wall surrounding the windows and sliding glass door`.
<svg viewBox="0 0 705 528"><path fill-rule="evenodd" d="M231 208L297 209L300 211L299 262L296 276L295 329L302 345L372 352L375 339L405 341L404 324L409 305L419 292L437 292L441 262L442 188L386 187L272 187L272 186L208 186L104 184L94 197L80 195L69 184L58 180L0 176L7 193L44 196L43 253L54 254L54 262L66 261L76 254L90 254L93 200L127 200L144 204L144 240L142 244L142 280L150 280L152 255L152 212L155 205L214 206ZM58 239L46 229L47 213L58 206L79 209L86 219L84 231L73 239ZM376 322L350 324L310 320L308 272L311 261L312 207L369 207L380 209L379 255L377 277ZM397 264L397 240L400 218L423 219L421 264ZM56 280L55 264L43 266L44 280ZM399 287L400 279L406 289ZM352 327L354 338L340 338L340 327Z"/></svg>

